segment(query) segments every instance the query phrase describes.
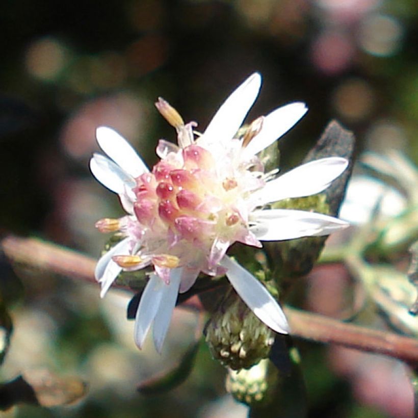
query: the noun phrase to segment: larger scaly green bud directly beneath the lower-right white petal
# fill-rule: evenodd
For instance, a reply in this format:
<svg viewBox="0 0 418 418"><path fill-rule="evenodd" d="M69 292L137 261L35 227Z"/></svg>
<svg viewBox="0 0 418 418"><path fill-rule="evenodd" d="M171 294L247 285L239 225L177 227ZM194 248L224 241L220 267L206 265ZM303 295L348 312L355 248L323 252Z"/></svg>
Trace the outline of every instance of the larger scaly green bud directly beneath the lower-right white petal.
<svg viewBox="0 0 418 418"><path fill-rule="evenodd" d="M206 342L226 367L248 369L269 356L274 332L230 291L206 326Z"/></svg>

